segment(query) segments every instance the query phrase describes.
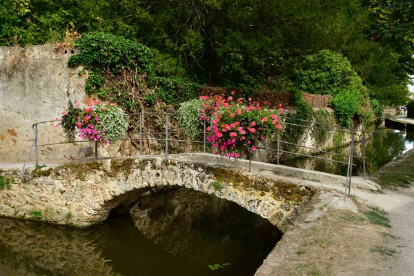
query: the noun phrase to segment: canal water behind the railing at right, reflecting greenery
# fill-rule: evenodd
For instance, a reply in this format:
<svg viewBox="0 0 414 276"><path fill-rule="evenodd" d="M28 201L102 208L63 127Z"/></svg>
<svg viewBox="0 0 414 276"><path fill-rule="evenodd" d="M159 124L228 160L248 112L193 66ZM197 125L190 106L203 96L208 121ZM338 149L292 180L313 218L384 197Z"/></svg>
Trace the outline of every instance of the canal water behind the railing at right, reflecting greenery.
<svg viewBox="0 0 414 276"><path fill-rule="evenodd" d="M381 168L404 152L414 148L414 135L402 130L393 130L388 128L377 128L371 135L371 139L366 141L366 157L367 170L374 172ZM333 152L349 155L349 146L336 148ZM333 157L333 155L318 155L327 159L335 159L337 161L348 161L348 157ZM362 144L355 144L354 156L362 156ZM363 164L362 159L354 159L353 175L362 175ZM290 161L284 161L287 166L297 168L306 168L308 170L318 170L321 172L334 173L336 175L346 175L348 166L346 164L338 164L332 161L322 159L314 159L309 157L298 158Z"/></svg>

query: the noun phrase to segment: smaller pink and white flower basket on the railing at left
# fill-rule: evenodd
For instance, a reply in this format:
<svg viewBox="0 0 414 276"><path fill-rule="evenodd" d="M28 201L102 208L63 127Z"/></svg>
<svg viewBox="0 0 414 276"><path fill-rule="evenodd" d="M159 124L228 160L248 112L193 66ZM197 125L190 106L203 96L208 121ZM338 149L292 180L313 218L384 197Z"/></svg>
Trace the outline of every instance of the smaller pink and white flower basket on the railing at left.
<svg viewBox="0 0 414 276"><path fill-rule="evenodd" d="M69 101L62 112L60 125L66 138L75 141L75 133L83 140L107 145L124 137L128 128L128 117L117 103L101 103L88 99L87 108L79 108Z"/></svg>

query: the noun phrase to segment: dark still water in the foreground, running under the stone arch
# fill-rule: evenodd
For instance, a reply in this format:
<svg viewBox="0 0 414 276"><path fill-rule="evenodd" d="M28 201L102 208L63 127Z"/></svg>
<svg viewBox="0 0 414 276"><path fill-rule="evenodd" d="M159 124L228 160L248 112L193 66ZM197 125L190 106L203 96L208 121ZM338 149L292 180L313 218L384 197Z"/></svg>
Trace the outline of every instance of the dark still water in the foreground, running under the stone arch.
<svg viewBox="0 0 414 276"><path fill-rule="evenodd" d="M0 217L0 275L253 275L282 237L237 204L185 188L132 210L83 230Z"/></svg>

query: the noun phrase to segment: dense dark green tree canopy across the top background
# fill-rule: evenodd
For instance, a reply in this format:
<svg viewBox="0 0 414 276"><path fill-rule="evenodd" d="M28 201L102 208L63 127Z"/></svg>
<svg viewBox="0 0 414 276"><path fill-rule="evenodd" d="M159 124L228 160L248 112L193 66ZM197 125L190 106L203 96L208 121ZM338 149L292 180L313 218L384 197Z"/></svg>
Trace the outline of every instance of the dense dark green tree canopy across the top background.
<svg viewBox="0 0 414 276"><path fill-rule="evenodd" d="M277 90L293 86L310 56L331 50L370 97L397 105L414 75L413 10L409 0L5 0L0 45L98 30L151 48L161 77Z"/></svg>

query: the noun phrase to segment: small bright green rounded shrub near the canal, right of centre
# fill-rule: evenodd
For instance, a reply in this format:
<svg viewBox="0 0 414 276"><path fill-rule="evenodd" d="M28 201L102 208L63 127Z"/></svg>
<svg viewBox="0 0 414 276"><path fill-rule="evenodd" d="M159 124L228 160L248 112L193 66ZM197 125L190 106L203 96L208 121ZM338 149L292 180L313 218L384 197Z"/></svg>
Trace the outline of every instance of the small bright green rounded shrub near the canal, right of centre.
<svg viewBox="0 0 414 276"><path fill-rule="evenodd" d="M351 117L359 110L361 97L355 92L344 91L331 100L331 106L337 116L339 126L351 127Z"/></svg>

